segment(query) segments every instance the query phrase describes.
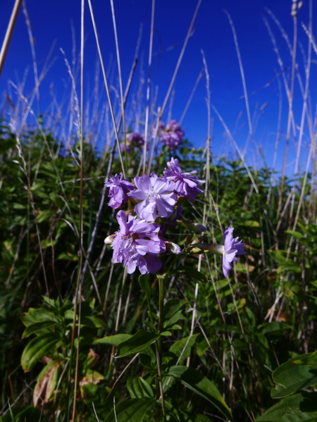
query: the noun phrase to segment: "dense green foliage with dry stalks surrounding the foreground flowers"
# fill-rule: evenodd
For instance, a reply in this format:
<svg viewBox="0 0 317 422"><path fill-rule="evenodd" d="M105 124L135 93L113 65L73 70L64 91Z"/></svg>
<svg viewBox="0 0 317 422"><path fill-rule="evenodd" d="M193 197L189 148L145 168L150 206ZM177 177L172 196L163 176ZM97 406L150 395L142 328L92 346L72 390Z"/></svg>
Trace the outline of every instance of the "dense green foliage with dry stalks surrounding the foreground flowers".
<svg viewBox="0 0 317 422"><path fill-rule="evenodd" d="M213 415L247 421L248 414L259 421L316 418L313 192L294 227L296 212L290 206L282 216L277 212L280 185L271 184L270 169L251 169L256 193L240 161L213 158L207 197L201 195L194 207L185 204L184 218L202 223L206 204L204 242L221 243L223 229L232 225L246 242L247 255L227 279L220 260L207 252L200 267L198 254L180 256L178 266L166 256L163 268L170 272L164 279L163 330L159 278L142 276L139 283L137 273L125 278L123 268L111 264L111 249L102 252L104 238L117 230L112 210L104 206L82 280L78 346L78 152L64 151L43 128L25 133L19 150L2 123L0 154L3 421L11 420L8 397L16 421L39 420L39 409L41 421L67 421L74 400L77 421L96 420L92 404L99 421L115 421L113 397L118 422L163 420L156 345L168 421L206 422ZM185 142L174 156L184 170L201 173L206 165L199 161L201 154ZM111 154L99 155L85 142L84 156L87 251ZM169 158L163 148L153 170L161 175ZM139 151L132 151L129 174L137 173L139 160ZM120 173L116 160L111 173ZM286 180L283 206L292 188ZM301 189L295 187L295 211ZM177 238L182 247L197 237L181 225L170 225L169 232L168 240Z"/></svg>

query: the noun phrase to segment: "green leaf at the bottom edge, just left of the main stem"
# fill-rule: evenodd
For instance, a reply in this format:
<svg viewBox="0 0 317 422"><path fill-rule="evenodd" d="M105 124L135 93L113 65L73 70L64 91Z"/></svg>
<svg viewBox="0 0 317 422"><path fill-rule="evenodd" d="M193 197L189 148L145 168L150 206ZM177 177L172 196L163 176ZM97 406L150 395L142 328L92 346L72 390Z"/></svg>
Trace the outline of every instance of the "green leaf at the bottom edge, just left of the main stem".
<svg viewBox="0 0 317 422"><path fill-rule="evenodd" d="M142 422L150 409L154 411L156 400L154 399L130 399L116 405L116 416L113 409L106 417L105 422ZM150 418L147 418L149 421Z"/></svg>

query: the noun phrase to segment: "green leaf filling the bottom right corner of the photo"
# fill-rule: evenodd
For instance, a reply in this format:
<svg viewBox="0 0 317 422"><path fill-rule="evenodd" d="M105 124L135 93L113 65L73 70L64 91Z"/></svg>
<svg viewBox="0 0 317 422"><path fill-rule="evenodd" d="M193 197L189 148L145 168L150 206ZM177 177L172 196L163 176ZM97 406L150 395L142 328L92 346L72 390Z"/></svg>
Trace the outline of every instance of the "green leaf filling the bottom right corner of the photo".
<svg viewBox="0 0 317 422"><path fill-rule="evenodd" d="M317 392L299 392L268 409L256 422L316 422Z"/></svg>

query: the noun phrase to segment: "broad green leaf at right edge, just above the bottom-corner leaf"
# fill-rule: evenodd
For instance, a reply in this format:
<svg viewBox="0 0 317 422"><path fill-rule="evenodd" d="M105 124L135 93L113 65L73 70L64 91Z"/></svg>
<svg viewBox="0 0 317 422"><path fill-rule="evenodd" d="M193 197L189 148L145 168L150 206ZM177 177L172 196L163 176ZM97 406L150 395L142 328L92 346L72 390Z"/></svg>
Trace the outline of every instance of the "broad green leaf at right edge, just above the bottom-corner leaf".
<svg viewBox="0 0 317 422"><path fill-rule="evenodd" d="M317 383L317 362L315 356L313 356L315 360L311 360L311 362L316 362L313 366L296 363L297 361L306 361L312 355L313 353L307 353L295 356L275 369L272 377L278 385L272 390L273 399L286 397Z"/></svg>

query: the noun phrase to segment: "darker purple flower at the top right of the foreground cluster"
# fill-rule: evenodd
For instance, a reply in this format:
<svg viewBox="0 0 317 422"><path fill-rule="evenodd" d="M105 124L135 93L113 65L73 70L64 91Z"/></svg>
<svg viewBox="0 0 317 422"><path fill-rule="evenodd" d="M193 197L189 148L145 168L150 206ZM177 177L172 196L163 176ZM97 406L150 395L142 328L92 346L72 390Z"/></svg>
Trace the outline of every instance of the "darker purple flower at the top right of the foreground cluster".
<svg viewBox="0 0 317 422"><path fill-rule="evenodd" d="M164 170L163 174L168 180L175 182L175 191L179 197L187 197L189 201L194 201L198 193L204 193L199 187L199 183L205 183L206 180L199 180L196 176L197 170L182 173L178 159L170 159L167 163L169 170Z"/></svg>

